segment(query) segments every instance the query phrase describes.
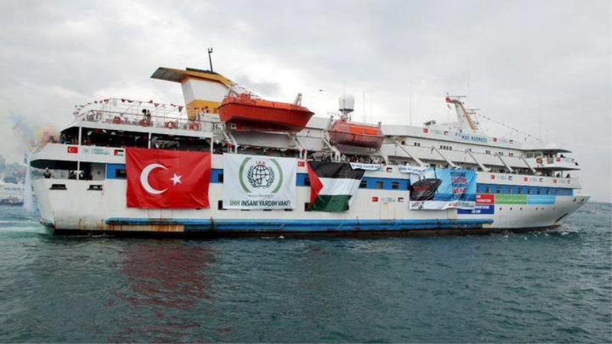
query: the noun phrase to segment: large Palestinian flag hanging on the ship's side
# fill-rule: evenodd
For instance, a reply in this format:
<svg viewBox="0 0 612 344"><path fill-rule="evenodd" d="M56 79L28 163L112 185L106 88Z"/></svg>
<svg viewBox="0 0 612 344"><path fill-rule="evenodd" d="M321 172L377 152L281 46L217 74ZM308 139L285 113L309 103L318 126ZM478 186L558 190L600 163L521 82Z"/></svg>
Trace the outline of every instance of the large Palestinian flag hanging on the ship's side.
<svg viewBox="0 0 612 344"><path fill-rule="evenodd" d="M353 170L350 163L309 161L310 210L348 211L364 172Z"/></svg>

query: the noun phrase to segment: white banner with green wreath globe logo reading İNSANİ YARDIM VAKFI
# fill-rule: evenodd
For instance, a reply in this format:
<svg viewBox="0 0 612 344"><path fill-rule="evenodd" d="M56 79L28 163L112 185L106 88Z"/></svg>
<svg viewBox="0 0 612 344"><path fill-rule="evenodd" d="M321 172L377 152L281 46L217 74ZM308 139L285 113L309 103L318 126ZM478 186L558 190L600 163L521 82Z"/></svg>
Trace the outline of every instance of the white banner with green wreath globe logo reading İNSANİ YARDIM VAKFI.
<svg viewBox="0 0 612 344"><path fill-rule="evenodd" d="M298 159L223 154L223 208L296 208Z"/></svg>

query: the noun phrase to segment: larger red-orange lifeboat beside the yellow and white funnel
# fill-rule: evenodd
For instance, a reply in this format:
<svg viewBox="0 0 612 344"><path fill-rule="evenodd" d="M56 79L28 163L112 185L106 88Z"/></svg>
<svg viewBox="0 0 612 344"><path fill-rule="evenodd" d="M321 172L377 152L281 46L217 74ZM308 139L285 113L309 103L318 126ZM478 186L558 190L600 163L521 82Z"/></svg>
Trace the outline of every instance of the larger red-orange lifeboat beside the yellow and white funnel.
<svg viewBox="0 0 612 344"><path fill-rule="evenodd" d="M255 99L246 93L225 97L218 113L221 122L236 124L237 130L287 132L304 129L313 115L304 106Z"/></svg>

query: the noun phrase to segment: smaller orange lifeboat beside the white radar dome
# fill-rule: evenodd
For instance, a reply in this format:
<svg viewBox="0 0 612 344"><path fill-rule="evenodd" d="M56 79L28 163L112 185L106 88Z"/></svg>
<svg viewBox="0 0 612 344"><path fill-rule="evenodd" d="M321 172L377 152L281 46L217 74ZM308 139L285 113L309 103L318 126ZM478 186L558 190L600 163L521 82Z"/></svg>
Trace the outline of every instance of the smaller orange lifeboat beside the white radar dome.
<svg viewBox="0 0 612 344"><path fill-rule="evenodd" d="M330 138L335 145L380 149L385 136L380 126L337 120L330 129Z"/></svg>

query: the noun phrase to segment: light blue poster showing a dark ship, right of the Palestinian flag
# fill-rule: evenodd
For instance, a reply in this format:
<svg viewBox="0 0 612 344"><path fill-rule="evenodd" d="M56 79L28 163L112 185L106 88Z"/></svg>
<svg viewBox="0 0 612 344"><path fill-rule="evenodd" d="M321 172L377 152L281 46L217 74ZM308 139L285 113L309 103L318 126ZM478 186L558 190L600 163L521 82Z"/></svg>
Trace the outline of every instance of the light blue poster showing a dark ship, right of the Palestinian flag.
<svg viewBox="0 0 612 344"><path fill-rule="evenodd" d="M474 209L476 172L449 168L427 168L410 174L410 209Z"/></svg>

